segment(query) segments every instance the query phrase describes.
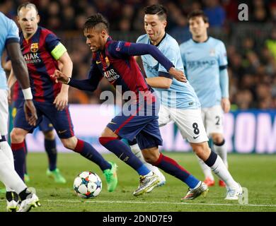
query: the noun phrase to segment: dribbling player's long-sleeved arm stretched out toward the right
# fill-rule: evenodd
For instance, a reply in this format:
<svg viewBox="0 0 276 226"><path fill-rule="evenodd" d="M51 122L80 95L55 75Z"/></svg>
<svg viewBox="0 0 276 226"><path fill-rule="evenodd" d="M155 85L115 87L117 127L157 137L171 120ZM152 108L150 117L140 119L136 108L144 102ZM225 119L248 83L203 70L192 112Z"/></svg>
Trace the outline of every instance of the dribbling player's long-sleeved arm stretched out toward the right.
<svg viewBox="0 0 276 226"><path fill-rule="evenodd" d="M178 71L175 69L173 63L169 61L161 51L152 44L143 44L143 43L132 43L132 42L114 42L115 47L110 45L110 53L115 57L124 57L127 56L142 56L150 54L151 57L154 57L156 61L159 61L160 64L178 81L186 82L185 75L183 71Z"/></svg>

